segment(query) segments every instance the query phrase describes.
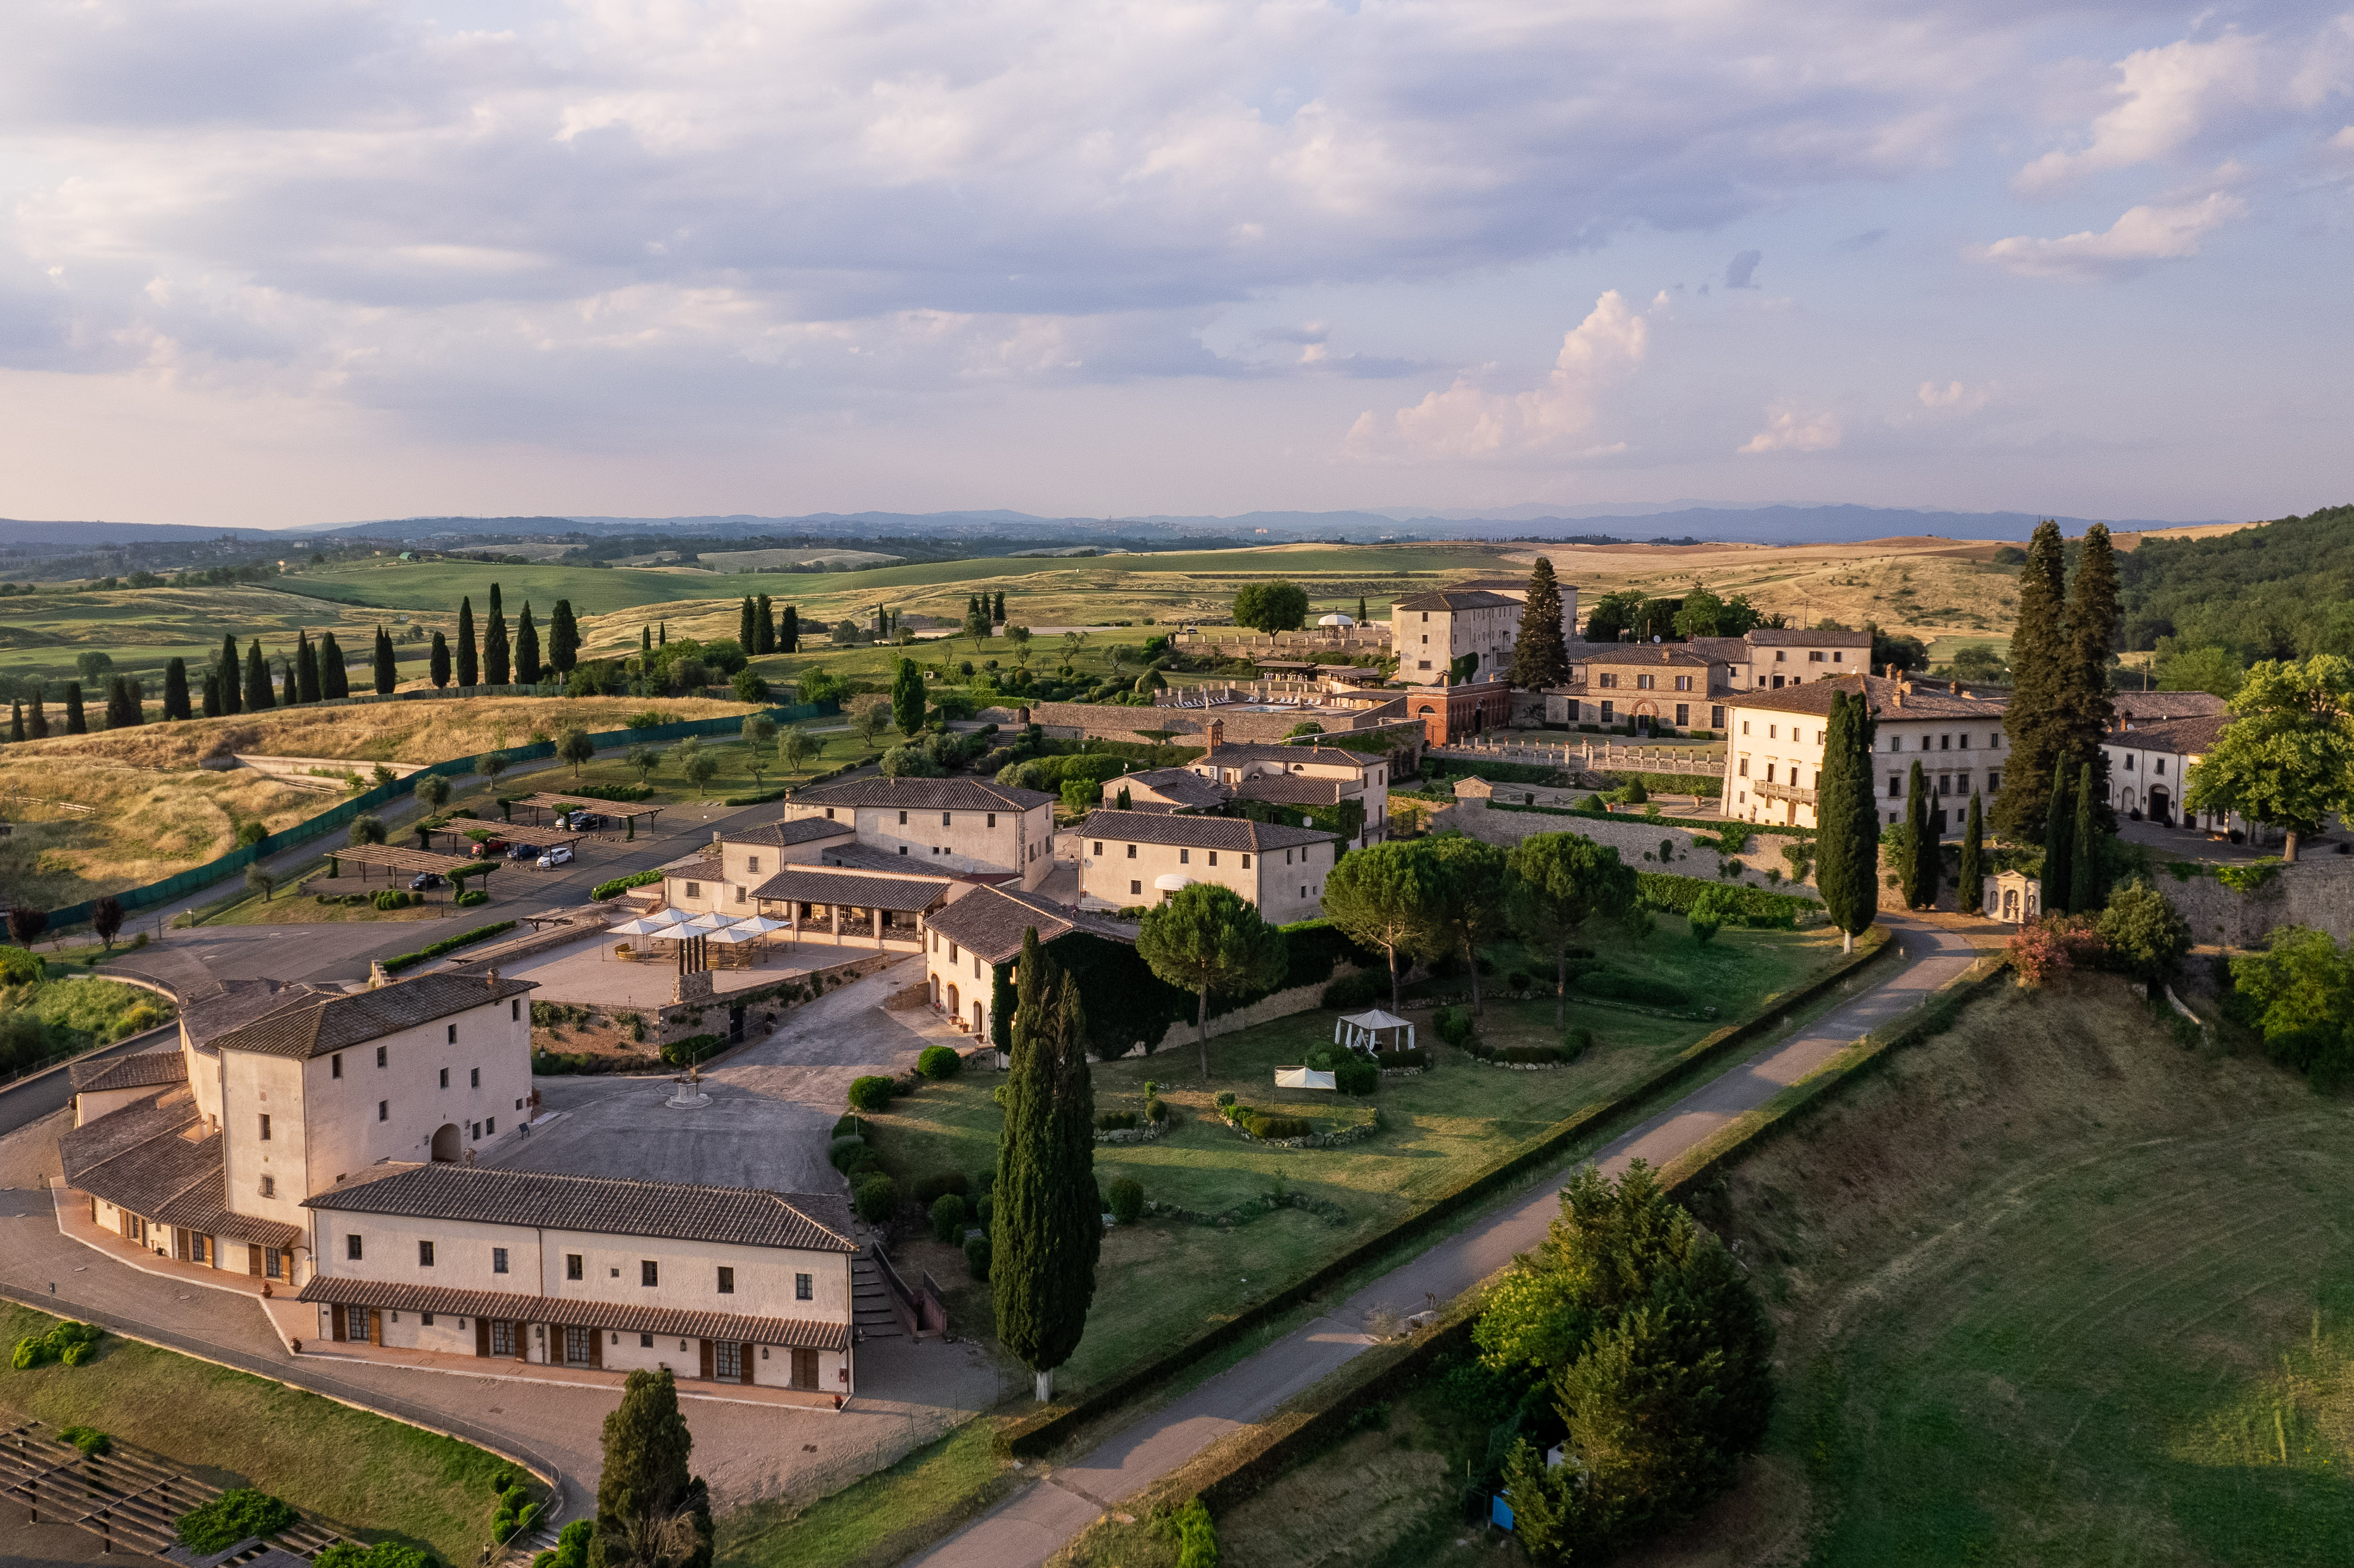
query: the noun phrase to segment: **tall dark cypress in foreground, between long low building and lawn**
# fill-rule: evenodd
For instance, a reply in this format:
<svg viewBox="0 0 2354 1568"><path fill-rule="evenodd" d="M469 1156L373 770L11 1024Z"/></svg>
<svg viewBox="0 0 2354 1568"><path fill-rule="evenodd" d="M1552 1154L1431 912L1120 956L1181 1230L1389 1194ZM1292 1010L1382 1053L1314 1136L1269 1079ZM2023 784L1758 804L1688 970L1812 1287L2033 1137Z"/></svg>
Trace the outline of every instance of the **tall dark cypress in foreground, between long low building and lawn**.
<svg viewBox="0 0 2354 1568"><path fill-rule="evenodd" d="M1040 1403L1088 1328L1104 1245L1085 1036L1078 986L1048 965L1033 925L1022 932L989 1283L998 1342L1031 1368Z"/></svg>

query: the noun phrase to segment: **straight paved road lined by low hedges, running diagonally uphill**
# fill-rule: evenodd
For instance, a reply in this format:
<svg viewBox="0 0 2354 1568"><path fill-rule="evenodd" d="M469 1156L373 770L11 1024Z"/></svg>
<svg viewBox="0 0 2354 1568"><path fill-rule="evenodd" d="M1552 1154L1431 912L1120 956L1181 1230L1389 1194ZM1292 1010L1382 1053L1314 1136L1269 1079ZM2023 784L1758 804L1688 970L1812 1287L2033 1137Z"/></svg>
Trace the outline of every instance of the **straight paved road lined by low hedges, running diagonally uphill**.
<svg viewBox="0 0 2354 1568"><path fill-rule="evenodd" d="M1883 916L1902 944L1902 968L1810 1029L1711 1078L1660 1116L1608 1144L1596 1158L1605 1175L1631 1161L1660 1165L1733 1116L1766 1104L1822 1067L1834 1052L1919 1005L1970 968L1977 951L1956 932L1904 916ZM1587 1161L1577 1161L1584 1165ZM1008 1502L916 1559L918 1568L1031 1568L1095 1523L1123 1497L1170 1474L1229 1431L1266 1417L1337 1366L1375 1344L1372 1314L1408 1316L1448 1302L1516 1253L1535 1248L1554 1215L1558 1189L1577 1165L1540 1182L1511 1208L1450 1236L1412 1262L1372 1281L1332 1311L1299 1326L1255 1356L1226 1368L1165 1410L1156 1410L1071 1464L1015 1493Z"/></svg>

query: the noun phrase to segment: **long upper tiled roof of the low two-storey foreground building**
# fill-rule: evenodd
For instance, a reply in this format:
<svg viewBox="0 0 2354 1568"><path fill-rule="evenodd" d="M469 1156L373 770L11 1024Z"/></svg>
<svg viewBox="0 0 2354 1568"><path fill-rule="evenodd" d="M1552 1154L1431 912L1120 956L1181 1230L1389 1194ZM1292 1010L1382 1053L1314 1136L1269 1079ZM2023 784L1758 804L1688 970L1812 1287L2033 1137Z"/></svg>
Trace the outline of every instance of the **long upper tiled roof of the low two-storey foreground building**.
<svg viewBox="0 0 2354 1568"><path fill-rule="evenodd" d="M374 1175L381 1170L384 1175ZM840 1198L758 1187L687 1187L619 1177L497 1170L490 1165L379 1165L304 1201L360 1215L544 1224L607 1236L727 1241L746 1248L857 1253ZM824 1212L833 1224L812 1220Z"/></svg>

